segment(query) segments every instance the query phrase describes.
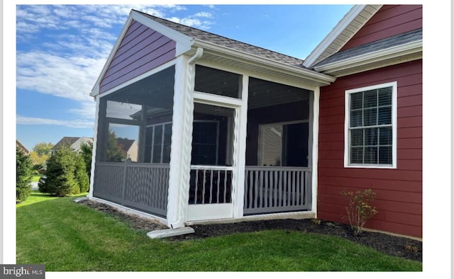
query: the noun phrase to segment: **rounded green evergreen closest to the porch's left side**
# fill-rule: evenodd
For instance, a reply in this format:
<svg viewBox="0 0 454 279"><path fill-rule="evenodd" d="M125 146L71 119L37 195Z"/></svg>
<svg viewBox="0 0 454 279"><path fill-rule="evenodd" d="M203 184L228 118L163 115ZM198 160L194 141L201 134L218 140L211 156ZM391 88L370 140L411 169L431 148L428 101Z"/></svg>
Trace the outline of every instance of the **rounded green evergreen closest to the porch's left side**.
<svg viewBox="0 0 454 279"><path fill-rule="evenodd" d="M47 169L38 188L42 193L58 196L87 192L89 178L82 155L70 147L56 150L48 159Z"/></svg>

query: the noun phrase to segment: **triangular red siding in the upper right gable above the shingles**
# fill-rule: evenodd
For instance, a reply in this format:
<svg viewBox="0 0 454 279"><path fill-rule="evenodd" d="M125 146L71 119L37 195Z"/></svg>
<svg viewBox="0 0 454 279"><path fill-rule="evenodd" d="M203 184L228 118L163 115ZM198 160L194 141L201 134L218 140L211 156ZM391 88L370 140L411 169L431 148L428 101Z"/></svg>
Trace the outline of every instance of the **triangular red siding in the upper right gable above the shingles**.
<svg viewBox="0 0 454 279"><path fill-rule="evenodd" d="M422 27L422 5L384 5L341 51Z"/></svg>

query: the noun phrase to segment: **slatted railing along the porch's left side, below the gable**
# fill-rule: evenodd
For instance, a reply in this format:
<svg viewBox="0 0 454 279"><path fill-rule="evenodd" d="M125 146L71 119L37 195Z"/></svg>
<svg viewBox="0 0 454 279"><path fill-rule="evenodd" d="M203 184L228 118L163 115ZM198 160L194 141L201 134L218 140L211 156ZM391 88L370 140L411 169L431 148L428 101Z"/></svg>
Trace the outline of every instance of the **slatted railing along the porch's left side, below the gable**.
<svg viewBox="0 0 454 279"><path fill-rule="evenodd" d="M93 195L166 217L169 171L168 164L96 163Z"/></svg>

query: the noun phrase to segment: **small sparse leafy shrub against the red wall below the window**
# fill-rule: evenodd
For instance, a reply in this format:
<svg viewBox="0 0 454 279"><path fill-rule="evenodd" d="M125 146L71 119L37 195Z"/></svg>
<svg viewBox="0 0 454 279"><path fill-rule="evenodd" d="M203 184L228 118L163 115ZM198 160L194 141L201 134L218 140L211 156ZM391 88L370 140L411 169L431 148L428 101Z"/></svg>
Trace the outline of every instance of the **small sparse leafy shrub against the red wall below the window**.
<svg viewBox="0 0 454 279"><path fill-rule="evenodd" d="M341 194L348 200L345 210L347 210L346 217L350 222L350 227L353 229L353 234L358 235L362 232L365 222L378 212L377 208L370 205L370 202L375 198L375 192L366 189L355 193L343 191Z"/></svg>

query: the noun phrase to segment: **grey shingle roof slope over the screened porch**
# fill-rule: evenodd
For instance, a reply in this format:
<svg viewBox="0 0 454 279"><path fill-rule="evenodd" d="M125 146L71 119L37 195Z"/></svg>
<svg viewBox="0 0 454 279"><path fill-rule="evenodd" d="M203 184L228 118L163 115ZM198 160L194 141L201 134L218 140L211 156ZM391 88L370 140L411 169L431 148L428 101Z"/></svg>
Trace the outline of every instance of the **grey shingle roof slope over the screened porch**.
<svg viewBox="0 0 454 279"><path fill-rule="evenodd" d="M215 45L228 47L233 50L238 50L239 52L245 52L245 53L248 53L249 55L255 55L258 57L271 59L275 62L289 64L289 65L295 66L295 67L305 68L301 65L304 62L304 60L302 60L302 59L299 59L296 57L291 57L289 55L283 55L282 53L274 52L272 50L267 50L262 47L256 47L254 45L249 45L245 42L239 42L238 40L229 39L229 38L223 37L221 35L209 33L209 32L203 31L203 30L189 27L187 25L182 25L182 24L175 23L172 21L167 21L163 18L151 16L148 13L143 13L140 11L137 11L137 12L143 14L144 16L147 16L148 18L153 19L153 21L157 21L158 23L161 23L162 25L166 25L169 28L177 30L179 33L182 33L184 35L187 35L187 36L192 37L197 40L202 40L204 42L211 42Z"/></svg>

